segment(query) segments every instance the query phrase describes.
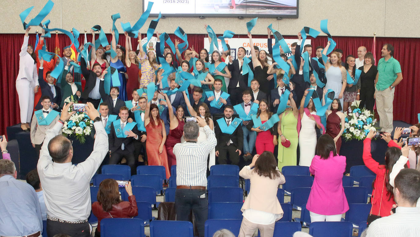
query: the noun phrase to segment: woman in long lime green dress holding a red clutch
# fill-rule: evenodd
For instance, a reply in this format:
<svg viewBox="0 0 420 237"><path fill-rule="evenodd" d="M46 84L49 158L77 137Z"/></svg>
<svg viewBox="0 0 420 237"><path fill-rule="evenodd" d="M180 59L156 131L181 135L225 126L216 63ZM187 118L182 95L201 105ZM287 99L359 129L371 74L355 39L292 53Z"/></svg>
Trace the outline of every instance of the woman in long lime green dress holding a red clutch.
<svg viewBox="0 0 420 237"><path fill-rule="evenodd" d="M296 103L292 98L292 93L289 95L286 110L280 114L280 121L278 122L278 169L281 170L283 166L296 165L296 151L298 144L297 134L297 119L299 111ZM280 143L290 141L290 147L283 147Z"/></svg>

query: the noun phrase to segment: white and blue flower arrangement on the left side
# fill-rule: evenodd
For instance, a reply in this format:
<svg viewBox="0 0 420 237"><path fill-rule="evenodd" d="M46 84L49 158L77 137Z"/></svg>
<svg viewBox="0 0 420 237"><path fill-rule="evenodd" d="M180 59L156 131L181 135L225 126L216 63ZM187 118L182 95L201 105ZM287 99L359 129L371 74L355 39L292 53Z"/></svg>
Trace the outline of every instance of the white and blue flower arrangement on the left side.
<svg viewBox="0 0 420 237"><path fill-rule="evenodd" d="M64 103L75 102L73 95L67 97L64 100ZM70 106L69 111L72 111L73 106ZM92 131L93 121L89 118L86 113L83 112L76 112L70 116L70 119L64 122L63 125L63 135L68 137L74 135L76 140L78 140L81 144L86 142L85 136L89 136L90 132Z"/></svg>

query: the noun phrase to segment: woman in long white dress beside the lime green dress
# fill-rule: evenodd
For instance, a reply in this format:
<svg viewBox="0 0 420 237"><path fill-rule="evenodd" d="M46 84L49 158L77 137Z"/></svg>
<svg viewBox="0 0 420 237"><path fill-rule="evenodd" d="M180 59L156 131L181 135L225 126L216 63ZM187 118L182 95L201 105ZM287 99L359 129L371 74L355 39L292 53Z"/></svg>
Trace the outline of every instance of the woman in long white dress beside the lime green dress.
<svg viewBox="0 0 420 237"><path fill-rule="evenodd" d="M302 100L300 101L300 132L299 132L299 165L310 166L312 158L315 156L316 147L316 131L315 124L320 129L321 126L315 122L316 109L312 98L309 100L308 105L305 106L305 99L309 90L305 90ZM325 129L324 129L325 130Z"/></svg>

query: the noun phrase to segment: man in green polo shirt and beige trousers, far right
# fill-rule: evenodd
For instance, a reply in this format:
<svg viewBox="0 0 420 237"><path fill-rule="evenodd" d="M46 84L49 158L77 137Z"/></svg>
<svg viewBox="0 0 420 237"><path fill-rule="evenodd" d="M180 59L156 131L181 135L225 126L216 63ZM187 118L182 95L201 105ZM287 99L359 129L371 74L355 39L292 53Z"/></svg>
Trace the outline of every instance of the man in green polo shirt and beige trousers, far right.
<svg viewBox="0 0 420 237"><path fill-rule="evenodd" d="M394 130L393 121L393 101L396 85L402 80L401 66L392 57L394 46L385 44L381 50L378 62L378 73L375 80L375 99L376 109L378 110L381 130L391 133Z"/></svg>

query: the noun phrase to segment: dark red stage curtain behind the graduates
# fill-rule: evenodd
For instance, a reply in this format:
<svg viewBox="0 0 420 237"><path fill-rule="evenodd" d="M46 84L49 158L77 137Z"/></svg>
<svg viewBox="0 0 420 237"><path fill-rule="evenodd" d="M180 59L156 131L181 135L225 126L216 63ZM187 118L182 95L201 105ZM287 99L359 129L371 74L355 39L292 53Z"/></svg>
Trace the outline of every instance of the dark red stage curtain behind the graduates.
<svg viewBox="0 0 420 237"><path fill-rule="evenodd" d="M171 39L174 40L176 37L173 34L169 34ZM70 39L64 34L59 34L61 46L68 46ZM142 34L142 38L145 37ZM55 41L53 36L51 39L46 39L47 49L49 51L54 49ZM110 34L107 34L108 40L111 39ZM189 34L188 41L189 46L194 46L194 49L198 52L199 49L204 47L205 34ZM247 38L246 35L235 36L238 38ZM267 36L260 35L254 36L255 38L266 38ZM296 39L296 36L284 36L287 38ZM19 67L19 52L23 42L24 34L0 34L0 75L1 82L0 86L3 88L1 93L0 109L3 112L3 116L0 119L0 134L6 133L6 127L13 124L18 124L19 121L19 103L18 95L16 92L15 81L18 75ZM84 35L81 34L79 41L82 43ZM87 34L87 40L91 41L92 36ZM310 38L312 39L312 38ZM326 36L319 36L316 39L312 39L312 46L325 46ZM349 36L336 36L334 40L337 43L337 48L340 48L344 52L344 57L348 54L353 54L357 57L357 48L359 46L366 46L368 51L371 51L373 37L349 37ZM136 49L137 39L131 39L134 49ZM415 99L415 91L420 91L420 83L415 83L416 78L419 76L420 69L415 65L420 64L420 55L415 53L415 49L420 48L420 41L418 38L376 38L376 57L381 58L381 48L383 44L392 44L395 48L394 58L397 59L401 64L403 80L396 87L395 99L394 99L394 120L406 121L410 124L416 124L417 113L420 112L420 103ZM30 34L29 44L35 44L34 34ZM125 44L125 36L120 34L119 44ZM61 49L63 52L63 49ZM312 51L312 57L315 56L315 50Z"/></svg>

